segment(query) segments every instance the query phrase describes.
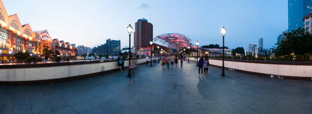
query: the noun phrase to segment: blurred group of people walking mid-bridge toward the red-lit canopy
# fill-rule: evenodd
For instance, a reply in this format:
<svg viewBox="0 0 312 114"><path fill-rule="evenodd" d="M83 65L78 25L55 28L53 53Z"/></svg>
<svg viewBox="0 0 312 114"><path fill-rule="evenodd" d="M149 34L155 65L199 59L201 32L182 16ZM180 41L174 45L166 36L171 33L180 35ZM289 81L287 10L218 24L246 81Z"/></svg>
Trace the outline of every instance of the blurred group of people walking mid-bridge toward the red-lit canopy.
<svg viewBox="0 0 312 114"><path fill-rule="evenodd" d="M163 69L169 69L170 68L170 64L171 64L171 69L172 69L173 68L173 63L175 64L175 68L177 68L178 60L180 60L181 68L183 67L184 59L183 59L182 56L180 58L178 58L177 55L171 54L171 56L163 55L161 58L162 58L161 62L162 62ZM165 65L166 65L166 67L165 67Z"/></svg>

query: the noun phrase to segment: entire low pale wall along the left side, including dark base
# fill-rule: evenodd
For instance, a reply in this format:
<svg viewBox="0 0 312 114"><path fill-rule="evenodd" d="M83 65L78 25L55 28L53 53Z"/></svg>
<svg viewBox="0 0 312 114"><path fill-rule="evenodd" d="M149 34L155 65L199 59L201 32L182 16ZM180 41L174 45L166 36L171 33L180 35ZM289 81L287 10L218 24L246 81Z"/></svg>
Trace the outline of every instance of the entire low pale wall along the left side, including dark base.
<svg viewBox="0 0 312 114"><path fill-rule="evenodd" d="M145 62L144 58L131 60L132 65ZM124 66L128 66L128 60ZM115 60L8 65L0 67L0 83L65 79L116 69Z"/></svg>

